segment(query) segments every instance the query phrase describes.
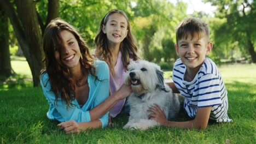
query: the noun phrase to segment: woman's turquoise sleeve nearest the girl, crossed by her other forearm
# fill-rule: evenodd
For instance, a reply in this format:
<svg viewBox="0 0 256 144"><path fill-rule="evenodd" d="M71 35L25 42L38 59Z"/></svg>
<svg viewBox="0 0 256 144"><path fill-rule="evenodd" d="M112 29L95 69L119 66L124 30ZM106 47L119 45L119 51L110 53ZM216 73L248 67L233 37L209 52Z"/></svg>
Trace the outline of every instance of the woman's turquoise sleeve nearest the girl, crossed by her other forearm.
<svg viewBox="0 0 256 144"><path fill-rule="evenodd" d="M95 100L94 100L94 106L97 106L98 104L102 103L108 95L109 95L109 68L106 62L102 61L96 61L100 62L96 65L96 75L98 77L98 80L100 82L97 83L97 86L95 87ZM97 81L98 81L97 80ZM95 86L95 85L94 85ZM108 113L107 112L104 116L99 118L99 120L102 123L102 128L106 127L108 125Z"/></svg>

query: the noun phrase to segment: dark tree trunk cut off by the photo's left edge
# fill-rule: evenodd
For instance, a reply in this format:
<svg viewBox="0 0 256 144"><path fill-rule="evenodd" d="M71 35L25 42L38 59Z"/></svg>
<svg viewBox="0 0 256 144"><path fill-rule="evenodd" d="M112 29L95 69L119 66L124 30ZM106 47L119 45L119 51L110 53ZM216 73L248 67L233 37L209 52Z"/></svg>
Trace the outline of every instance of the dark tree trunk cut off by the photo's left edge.
<svg viewBox="0 0 256 144"><path fill-rule="evenodd" d="M14 74L10 63L8 17L0 7L0 76L9 77Z"/></svg>

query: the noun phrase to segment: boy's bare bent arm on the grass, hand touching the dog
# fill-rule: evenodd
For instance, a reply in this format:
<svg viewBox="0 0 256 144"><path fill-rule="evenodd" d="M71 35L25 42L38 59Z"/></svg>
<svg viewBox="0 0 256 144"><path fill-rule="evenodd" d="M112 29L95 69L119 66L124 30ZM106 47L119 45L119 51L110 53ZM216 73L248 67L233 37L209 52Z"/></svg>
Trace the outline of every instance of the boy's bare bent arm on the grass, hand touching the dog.
<svg viewBox="0 0 256 144"><path fill-rule="evenodd" d="M196 129L206 129L208 120L210 117L212 106L208 107L199 107L197 108L196 116L192 121L187 122L172 122L168 121L166 119L165 113L157 106L155 105L155 109L150 108L149 111L152 111L154 113L151 113L149 115L150 119L154 119L155 121L159 122L162 125L165 125L167 127L178 127L178 128L196 128Z"/></svg>

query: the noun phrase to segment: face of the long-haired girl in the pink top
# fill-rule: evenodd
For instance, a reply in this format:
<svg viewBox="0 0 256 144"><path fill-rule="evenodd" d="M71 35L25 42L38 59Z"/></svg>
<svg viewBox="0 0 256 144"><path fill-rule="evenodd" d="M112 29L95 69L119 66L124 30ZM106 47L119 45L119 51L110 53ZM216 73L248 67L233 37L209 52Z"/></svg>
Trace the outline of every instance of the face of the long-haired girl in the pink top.
<svg viewBox="0 0 256 144"><path fill-rule="evenodd" d="M120 44L128 33L127 20L122 14L111 14L108 16L106 26L103 25L102 32L107 34L110 44Z"/></svg>

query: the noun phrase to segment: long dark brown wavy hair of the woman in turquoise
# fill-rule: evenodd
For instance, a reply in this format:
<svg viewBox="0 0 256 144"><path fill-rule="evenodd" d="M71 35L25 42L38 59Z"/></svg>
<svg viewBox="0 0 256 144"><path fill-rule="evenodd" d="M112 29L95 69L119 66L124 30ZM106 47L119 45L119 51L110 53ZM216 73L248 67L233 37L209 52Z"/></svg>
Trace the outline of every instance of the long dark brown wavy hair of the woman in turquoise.
<svg viewBox="0 0 256 144"><path fill-rule="evenodd" d="M96 70L94 66L94 58L90 55L88 46L86 45L83 38L75 30L75 28L69 25L66 21L61 19L52 20L46 27L43 36L43 49L45 57L43 59L45 69L42 70L41 77L47 73L51 84L51 91L55 94L55 101L61 94L61 99L66 101L67 107L72 104L71 102L75 99L74 90L75 82L70 78L69 69L65 67L65 64L59 64L55 58L55 51L61 53L64 49L63 41L60 32L66 30L71 32L75 39L78 41L81 57L79 62L81 65L82 73L85 75L89 73L96 77ZM61 58L61 55L60 55ZM44 86L47 83L44 83ZM57 102L56 102L57 104ZM73 105L73 104L72 104Z"/></svg>

